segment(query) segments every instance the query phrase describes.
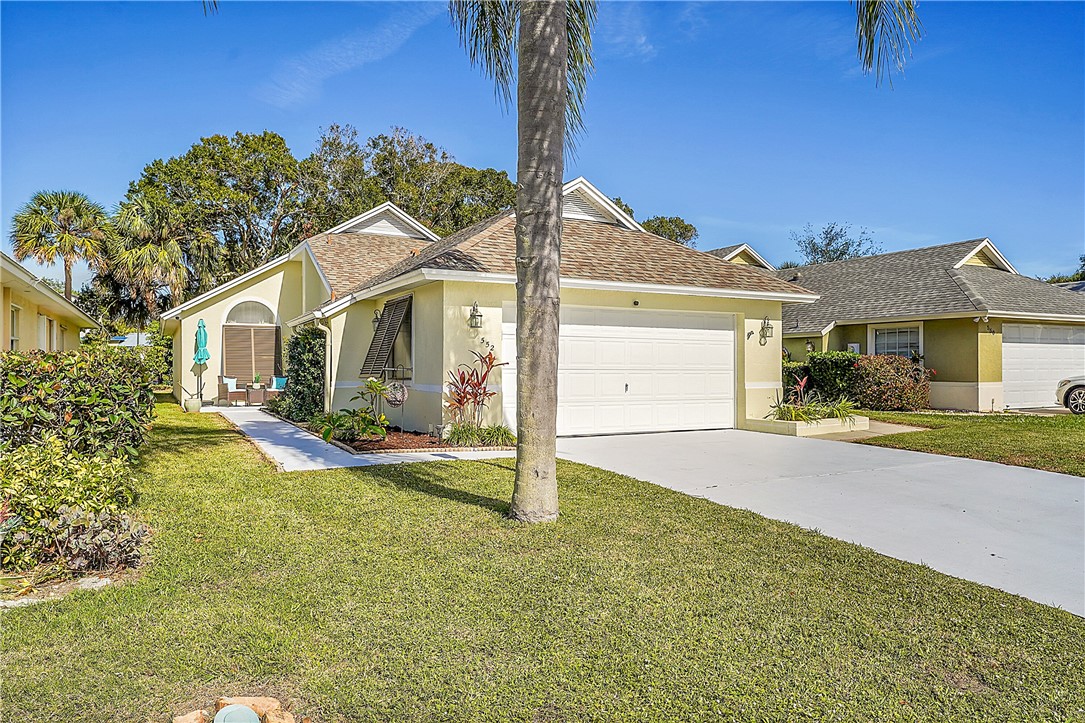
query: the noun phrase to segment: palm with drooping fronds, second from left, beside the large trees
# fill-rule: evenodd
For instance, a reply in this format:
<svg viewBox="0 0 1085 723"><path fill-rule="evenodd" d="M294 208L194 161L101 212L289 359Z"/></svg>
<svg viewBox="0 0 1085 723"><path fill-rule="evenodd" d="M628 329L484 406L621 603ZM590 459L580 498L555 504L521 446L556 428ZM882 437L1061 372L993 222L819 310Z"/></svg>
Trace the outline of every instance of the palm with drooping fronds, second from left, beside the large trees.
<svg viewBox="0 0 1085 723"><path fill-rule="evenodd" d="M184 249L190 234L173 206L137 196L116 213L116 234L110 244L107 272L129 300L118 309L138 329L157 316L167 293L179 301L188 284Z"/></svg>

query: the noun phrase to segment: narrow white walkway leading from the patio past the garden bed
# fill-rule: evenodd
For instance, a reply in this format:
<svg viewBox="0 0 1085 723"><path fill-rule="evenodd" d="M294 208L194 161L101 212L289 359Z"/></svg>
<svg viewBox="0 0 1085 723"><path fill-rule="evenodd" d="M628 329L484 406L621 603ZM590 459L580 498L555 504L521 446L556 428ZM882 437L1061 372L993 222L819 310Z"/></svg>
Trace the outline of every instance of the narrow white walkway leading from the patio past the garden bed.
<svg viewBox="0 0 1085 723"><path fill-rule="evenodd" d="M493 459L494 457L513 455L511 452L412 452L353 455L297 429L293 424L288 424L281 419L260 411L259 407L205 407L204 410L217 411L233 422L284 472L448 459Z"/></svg>

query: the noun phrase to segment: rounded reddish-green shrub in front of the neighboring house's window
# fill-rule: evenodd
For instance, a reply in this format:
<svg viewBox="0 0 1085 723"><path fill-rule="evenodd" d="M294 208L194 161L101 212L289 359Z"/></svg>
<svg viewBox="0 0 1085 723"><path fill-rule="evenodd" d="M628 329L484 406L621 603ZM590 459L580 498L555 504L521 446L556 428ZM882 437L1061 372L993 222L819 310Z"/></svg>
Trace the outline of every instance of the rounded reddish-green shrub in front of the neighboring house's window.
<svg viewBox="0 0 1085 723"><path fill-rule="evenodd" d="M848 397L864 409L914 411L931 402L931 372L903 356L860 356Z"/></svg>

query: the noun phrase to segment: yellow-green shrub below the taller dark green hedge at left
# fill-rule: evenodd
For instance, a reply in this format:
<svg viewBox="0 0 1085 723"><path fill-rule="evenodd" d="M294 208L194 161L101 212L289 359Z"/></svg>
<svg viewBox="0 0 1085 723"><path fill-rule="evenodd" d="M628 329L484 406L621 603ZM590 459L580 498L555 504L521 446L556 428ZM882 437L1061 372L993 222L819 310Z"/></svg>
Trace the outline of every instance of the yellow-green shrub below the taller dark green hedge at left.
<svg viewBox="0 0 1085 723"><path fill-rule="evenodd" d="M22 521L0 542L0 566L17 570L55 559L48 550L61 510L110 516L137 498L124 457L80 455L55 436L0 455L0 494L8 513Z"/></svg>

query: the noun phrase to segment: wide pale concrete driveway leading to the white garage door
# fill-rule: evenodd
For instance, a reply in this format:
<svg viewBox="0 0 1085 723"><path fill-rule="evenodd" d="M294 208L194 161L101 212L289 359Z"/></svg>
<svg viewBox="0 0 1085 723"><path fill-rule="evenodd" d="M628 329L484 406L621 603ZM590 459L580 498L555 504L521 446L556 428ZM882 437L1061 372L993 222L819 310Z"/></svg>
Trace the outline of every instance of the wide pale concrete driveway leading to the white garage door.
<svg viewBox="0 0 1085 723"><path fill-rule="evenodd" d="M737 430L569 437L558 454L1085 616L1085 478Z"/></svg>

